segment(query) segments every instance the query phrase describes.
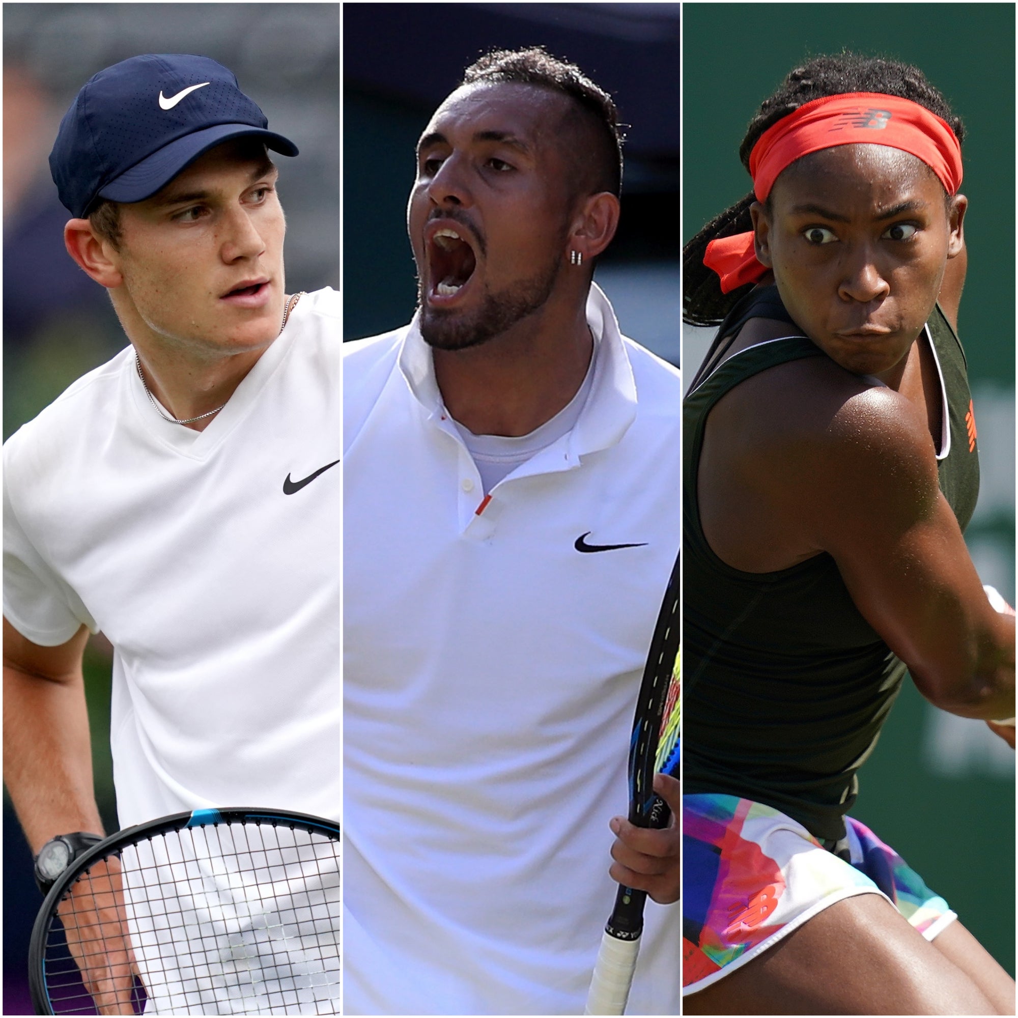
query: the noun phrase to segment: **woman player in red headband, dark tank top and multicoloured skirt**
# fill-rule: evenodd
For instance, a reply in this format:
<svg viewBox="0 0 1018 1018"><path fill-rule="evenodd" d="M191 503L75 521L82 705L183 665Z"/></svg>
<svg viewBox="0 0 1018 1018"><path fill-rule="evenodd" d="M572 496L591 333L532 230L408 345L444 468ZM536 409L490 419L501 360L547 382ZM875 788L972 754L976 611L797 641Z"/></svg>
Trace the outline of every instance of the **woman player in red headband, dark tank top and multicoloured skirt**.
<svg viewBox="0 0 1018 1018"><path fill-rule="evenodd" d="M962 134L914 67L813 60L749 126L753 193L684 252L686 320L721 323L684 419L688 1014L1014 1014L846 816L906 668L947 711L1015 713L1014 618L962 539Z"/></svg>

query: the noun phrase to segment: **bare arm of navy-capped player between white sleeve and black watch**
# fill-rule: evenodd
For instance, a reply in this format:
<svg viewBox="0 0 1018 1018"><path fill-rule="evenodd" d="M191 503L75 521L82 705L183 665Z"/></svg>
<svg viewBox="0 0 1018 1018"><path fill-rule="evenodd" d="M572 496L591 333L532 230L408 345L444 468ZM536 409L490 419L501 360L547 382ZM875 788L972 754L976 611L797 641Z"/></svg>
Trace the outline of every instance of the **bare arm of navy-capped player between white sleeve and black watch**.
<svg viewBox="0 0 1018 1018"><path fill-rule="evenodd" d="M37 853L58 834L103 833L92 782L82 626L66 643L40 646L3 621L3 771Z"/></svg>

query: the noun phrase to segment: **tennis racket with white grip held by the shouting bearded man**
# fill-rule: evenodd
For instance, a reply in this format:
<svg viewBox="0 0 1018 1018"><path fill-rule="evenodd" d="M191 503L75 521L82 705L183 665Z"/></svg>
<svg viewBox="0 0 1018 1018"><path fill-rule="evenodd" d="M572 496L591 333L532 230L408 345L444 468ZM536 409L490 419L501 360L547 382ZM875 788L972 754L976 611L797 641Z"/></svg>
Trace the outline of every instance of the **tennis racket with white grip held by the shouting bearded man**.
<svg viewBox="0 0 1018 1018"><path fill-rule="evenodd" d="M629 823L663 828L671 810L654 792L658 772L679 772L679 623L681 570L675 559L643 669L629 745ZM643 932L646 892L620 887L605 926L585 1014L625 1014ZM678 961L676 960L676 968Z"/></svg>

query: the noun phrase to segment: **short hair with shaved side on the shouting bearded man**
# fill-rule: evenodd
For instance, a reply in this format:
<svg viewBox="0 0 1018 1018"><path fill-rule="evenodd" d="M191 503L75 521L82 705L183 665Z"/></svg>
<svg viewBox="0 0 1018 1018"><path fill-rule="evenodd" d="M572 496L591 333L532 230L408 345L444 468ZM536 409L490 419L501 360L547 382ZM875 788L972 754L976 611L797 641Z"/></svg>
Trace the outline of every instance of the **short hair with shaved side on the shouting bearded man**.
<svg viewBox="0 0 1018 1018"><path fill-rule="evenodd" d="M577 147L569 154L579 171L577 189L590 194L621 193L625 135L619 124L619 111L604 89L595 84L576 64L553 57L542 46L493 50L466 68L462 84L502 81L538 86L572 100L576 133L592 142L590 149Z"/></svg>

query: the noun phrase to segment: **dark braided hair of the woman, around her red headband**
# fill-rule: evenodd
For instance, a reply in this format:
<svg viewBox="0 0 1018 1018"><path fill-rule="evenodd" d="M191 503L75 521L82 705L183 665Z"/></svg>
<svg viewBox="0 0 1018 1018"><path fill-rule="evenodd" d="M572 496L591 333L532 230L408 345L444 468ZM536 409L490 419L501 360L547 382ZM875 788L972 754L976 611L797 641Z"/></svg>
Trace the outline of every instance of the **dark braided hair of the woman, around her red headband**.
<svg viewBox="0 0 1018 1018"><path fill-rule="evenodd" d="M876 92L899 99L910 99L944 120L958 140L964 138L961 119L951 112L947 101L925 78L922 71L910 64L882 57L863 57L842 53L815 57L796 67L781 88L765 99L749 121L746 136L739 146L739 159L749 169L749 154L759 136L782 117L788 116L813 99L838 96L846 92ZM716 216L682 249L682 320L689 325L717 325L744 297L752 283L729 293L721 292L717 273L703 265L706 245L717 237L745 233L753 228L749 207L756 199L750 191L744 199Z"/></svg>

